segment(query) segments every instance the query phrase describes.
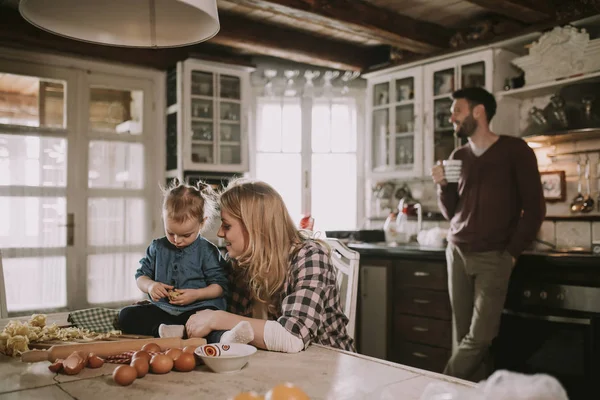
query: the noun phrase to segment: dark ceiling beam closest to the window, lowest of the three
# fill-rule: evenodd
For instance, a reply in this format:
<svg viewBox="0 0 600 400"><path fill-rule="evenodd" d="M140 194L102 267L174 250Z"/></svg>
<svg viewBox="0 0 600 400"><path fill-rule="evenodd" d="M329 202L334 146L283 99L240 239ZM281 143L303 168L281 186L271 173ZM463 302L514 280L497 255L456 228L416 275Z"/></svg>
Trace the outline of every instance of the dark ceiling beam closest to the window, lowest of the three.
<svg viewBox="0 0 600 400"><path fill-rule="evenodd" d="M389 50L331 40L220 12L221 30L209 43L326 68L361 71L389 60Z"/></svg>

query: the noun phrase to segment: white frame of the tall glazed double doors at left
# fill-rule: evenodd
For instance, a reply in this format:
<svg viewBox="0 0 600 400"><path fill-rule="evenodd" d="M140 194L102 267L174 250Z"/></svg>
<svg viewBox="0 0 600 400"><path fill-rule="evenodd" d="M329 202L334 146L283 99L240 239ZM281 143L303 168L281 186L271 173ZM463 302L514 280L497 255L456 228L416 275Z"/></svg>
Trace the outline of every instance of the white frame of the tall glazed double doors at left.
<svg viewBox="0 0 600 400"><path fill-rule="evenodd" d="M72 74L66 73L65 71L71 70ZM71 110L77 110L82 114L81 107L85 107L89 103L89 86L87 84L86 74L93 73L98 75L106 76L118 76L121 79L126 80L127 78L136 80L147 80L153 86L153 96L151 99L150 109L144 109L144 113L151 113L151 121L154 127L154 131L150 132L151 137L145 139L146 151L144 167L147 171L151 172L146 177L146 188L145 192L148 193L147 206L150 210L148 212L150 234L152 237L159 237L164 234L162 223L160 221L160 214L156 210L160 209L161 195L158 187L159 183L165 181L165 126L166 126L166 115L164 112L159 110L165 110L166 99L165 99L165 75L163 71L153 70L143 67L125 66L121 64L113 64L103 61L90 60L85 58L74 58L61 55L45 54L39 52L30 52L24 50L8 49L0 47L0 71L7 73L14 73L19 75L30 75L56 78L67 81L67 95L66 95L66 108L67 108L67 127L66 129L51 130L44 128L20 128L12 127L10 125L3 125L3 130L7 133L15 134L39 134L40 136L59 136L65 137L69 140L68 146L68 159L72 160L73 153L76 151L84 151L87 155L87 148L83 148L88 145L88 140L92 139L87 135L88 132L88 121L83 118L78 119L78 123L69 124L69 118L73 118L73 112ZM69 83L71 85L69 85ZM93 83L92 83L93 84ZM76 92L73 91L73 87L76 86ZM115 87L117 84L115 84ZM85 112L87 115L87 112ZM56 131L56 134L52 134ZM78 135L85 135L85 146L78 143L77 137L69 132L78 132ZM83 136L82 136L83 137ZM97 138L97 137L96 137ZM79 140L81 142L81 140ZM83 147L82 147L83 146ZM87 238L87 210L83 209L87 207L87 196L86 201L70 201L74 196L79 195L80 190L84 190L86 193L87 189L87 156L79 157L80 160L84 160L84 165L77 168L74 166L68 166L69 173L67 175L67 213L75 213L77 215L77 221L75 226L75 238L76 240L84 240ZM81 161L80 161L81 162ZM152 176L156 182L149 181L148 176ZM37 190L37 188L31 188ZM60 189L60 188L59 188ZM44 189L46 190L46 189ZM51 189L52 190L52 189ZM60 192L60 190L58 190ZM67 246L67 306L66 310L81 309L88 306L87 303L87 242L78 246ZM70 253L69 253L70 252ZM14 252L13 252L14 253ZM77 254L76 254L77 253ZM4 251L3 256L5 258L11 257L11 251ZM15 256L14 254L12 256ZM132 276L133 280L134 277ZM0 288L4 290L4 288ZM117 305L117 304L111 304ZM123 305L123 303L121 303ZM102 306L102 305L95 305ZM63 311L60 310L44 310L45 312L50 311ZM31 314L31 311L26 312L11 312L10 316L20 314Z"/></svg>

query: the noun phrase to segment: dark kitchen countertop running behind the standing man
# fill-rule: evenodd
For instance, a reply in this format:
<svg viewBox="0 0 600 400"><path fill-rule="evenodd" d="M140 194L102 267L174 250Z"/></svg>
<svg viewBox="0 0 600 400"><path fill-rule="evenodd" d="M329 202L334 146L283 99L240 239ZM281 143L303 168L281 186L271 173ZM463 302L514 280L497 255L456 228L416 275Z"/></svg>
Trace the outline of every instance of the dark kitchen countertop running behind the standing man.
<svg viewBox="0 0 600 400"><path fill-rule="evenodd" d="M394 257L418 260L446 260L445 247L428 247L418 243L389 246L386 243L348 243L361 256ZM518 265L543 262L551 265L600 267L600 256L591 253L562 253L557 251L526 250L519 257Z"/></svg>

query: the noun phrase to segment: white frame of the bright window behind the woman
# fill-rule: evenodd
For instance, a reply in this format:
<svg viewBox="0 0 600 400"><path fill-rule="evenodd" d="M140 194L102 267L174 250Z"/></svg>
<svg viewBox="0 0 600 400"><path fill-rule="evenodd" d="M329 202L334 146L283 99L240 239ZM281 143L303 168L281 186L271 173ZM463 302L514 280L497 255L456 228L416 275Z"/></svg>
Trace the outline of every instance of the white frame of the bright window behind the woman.
<svg viewBox="0 0 600 400"><path fill-rule="evenodd" d="M254 114L254 121L257 123L252 125L250 134L250 148L252 153L250 154L250 175L256 177L256 155L258 153L257 146L257 129L260 116L258 115L258 98L263 88L256 88L255 91L255 104L253 104L252 110ZM365 173L367 167L365 165L365 154L361 149L365 148L365 96L366 92L364 89L351 88L345 95L336 95L333 98L351 98L355 102L356 106L356 229L360 229L365 224L366 216L366 204L365 204ZM281 97L273 97L273 104L280 104ZM269 100L268 98L266 100ZM301 109L301 165L302 165L302 188L301 188L301 210L302 213L309 213L311 211L311 183L312 183L312 108L314 100L313 97L303 96L300 100ZM292 215L292 218L294 215ZM294 221L299 222L299 221Z"/></svg>

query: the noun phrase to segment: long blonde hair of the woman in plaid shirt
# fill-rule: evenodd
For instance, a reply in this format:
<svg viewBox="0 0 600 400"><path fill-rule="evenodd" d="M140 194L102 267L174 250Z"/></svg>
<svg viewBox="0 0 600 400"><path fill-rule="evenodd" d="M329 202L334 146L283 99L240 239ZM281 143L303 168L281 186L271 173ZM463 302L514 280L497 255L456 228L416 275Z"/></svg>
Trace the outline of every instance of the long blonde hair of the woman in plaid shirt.
<svg viewBox="0 0 600 400"><path fill-rule="evenodd" d="M234 262L236 272L254 299L274 306L290 259L304 242L281 195L265 182L238 179L221 193L219 205L248 233L246 249Z"/></svg>

